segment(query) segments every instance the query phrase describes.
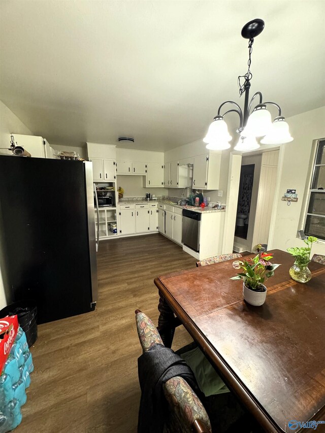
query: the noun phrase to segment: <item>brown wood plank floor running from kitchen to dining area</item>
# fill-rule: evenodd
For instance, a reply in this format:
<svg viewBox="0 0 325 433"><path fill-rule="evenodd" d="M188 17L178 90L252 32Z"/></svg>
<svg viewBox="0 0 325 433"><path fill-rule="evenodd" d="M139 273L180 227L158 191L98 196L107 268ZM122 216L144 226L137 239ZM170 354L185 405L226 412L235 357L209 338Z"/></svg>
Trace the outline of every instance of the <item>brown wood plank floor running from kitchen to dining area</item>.
<svg viewBox="0 0 325 433"><path fill-rule="evenodd" d="M96 310L38 327L35 371L17 433L137 431L141 355L135 309L158 318L158 275L190 269L196 259L161 235L103 241ZM183 327L176 350L191 341Z"/></svg>

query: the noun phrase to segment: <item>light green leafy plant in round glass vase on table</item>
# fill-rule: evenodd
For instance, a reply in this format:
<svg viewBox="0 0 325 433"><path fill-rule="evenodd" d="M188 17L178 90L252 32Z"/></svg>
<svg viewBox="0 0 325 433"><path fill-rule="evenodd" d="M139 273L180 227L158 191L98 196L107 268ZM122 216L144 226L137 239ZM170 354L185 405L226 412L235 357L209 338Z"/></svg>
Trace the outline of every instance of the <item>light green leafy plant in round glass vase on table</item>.
<svg viewBox="0 0 325 433"><path fill-rule="evenodd" d="M290 277L299 283L307 283L311 279L308 263L310 262L311 246L316 241L317 238L308 236L308 238L304 239L307 247L287 248L287 251L295 257L295 263L289 269Z"/></svg>

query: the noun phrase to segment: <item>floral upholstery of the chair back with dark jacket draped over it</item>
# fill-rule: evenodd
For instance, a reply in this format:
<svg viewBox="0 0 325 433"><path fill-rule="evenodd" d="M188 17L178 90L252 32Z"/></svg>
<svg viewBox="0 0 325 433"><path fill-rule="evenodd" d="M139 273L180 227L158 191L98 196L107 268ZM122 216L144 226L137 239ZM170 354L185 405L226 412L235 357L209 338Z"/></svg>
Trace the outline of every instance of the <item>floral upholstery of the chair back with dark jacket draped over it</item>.
<svg viewBox="0 0 325 433"><path fill-rule="evenodd" d="M143 352L155 344L163 344L156 327L140 310L136 310L136 322ZM199 397L181 377L173 377L163 385L169 406L164 433L211 433L208 414Z"/></svg>

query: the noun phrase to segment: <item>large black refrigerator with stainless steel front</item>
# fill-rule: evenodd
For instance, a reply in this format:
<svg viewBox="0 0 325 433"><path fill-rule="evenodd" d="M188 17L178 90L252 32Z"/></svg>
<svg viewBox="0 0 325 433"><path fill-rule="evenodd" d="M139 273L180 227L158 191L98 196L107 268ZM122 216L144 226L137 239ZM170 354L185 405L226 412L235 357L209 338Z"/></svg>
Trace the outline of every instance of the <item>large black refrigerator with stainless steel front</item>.
<svg viewBox="0 0 325 433"><path fill-rule="evenodd" d="M94 310L92 163L0 155L0 265L7 302L37 323Z"/></svg>

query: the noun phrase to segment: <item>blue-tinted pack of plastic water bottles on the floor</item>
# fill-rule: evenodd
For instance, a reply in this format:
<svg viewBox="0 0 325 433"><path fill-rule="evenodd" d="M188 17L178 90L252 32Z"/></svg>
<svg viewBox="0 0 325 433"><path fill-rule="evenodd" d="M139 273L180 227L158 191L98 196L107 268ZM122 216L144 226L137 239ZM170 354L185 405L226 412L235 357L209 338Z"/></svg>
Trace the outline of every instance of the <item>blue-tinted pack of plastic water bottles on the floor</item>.
<svg viewBox="0 0 325 433"><path fill-rule="evenodd" d="M21 406L26 403L30 385L29 374L34 370L26 336L19 326L15 342L0 376L0 433L13 430L21 423Z"/></svg>

